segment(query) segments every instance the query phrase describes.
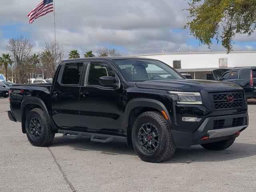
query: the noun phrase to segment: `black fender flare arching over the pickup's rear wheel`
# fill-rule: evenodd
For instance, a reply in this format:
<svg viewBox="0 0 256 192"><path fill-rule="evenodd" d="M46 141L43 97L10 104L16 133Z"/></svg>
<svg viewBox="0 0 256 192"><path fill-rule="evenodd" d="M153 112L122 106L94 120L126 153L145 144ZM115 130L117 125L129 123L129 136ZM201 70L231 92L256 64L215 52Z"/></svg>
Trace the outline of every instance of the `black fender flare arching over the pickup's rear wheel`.
<svg viewBox="0 0 256 192"><path fill-rule="evenodd" d="M21 102L21 106L20 106L20 112L21 112L21 119L23 119L23 111L24 111L24 108L26 107L26 105L28 104L36 104L38 106L40 106L42 108L42 110L44 111L44 113L46 114L47 116L47 119L50 123L50 128L52 130L52 132L56 132L56 130L58 130L56 124L54 123L53 119L52 119L52 116L50 116L49 112L48 112L48 109L46 107L46 105L44 104L44 102L38 98L38 97L27 97L27 98L24 98ZM23 133L26 133L26 130L25 130L25 125L22 123L22 132Z"/></svg>

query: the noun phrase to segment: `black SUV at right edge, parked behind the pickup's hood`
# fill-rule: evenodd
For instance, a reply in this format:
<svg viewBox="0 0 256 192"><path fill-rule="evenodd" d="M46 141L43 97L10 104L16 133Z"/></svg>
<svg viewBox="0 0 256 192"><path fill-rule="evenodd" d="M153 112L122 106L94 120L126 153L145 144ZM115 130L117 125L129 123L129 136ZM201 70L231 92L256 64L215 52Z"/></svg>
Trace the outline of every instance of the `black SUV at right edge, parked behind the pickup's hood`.
<svg viewBox="0 0 256 192"><path fill-rule="evenodd" d="M256 99L256 67L234 68L228 70L219 80L240 85L244 88L246 99Z"/></svg>

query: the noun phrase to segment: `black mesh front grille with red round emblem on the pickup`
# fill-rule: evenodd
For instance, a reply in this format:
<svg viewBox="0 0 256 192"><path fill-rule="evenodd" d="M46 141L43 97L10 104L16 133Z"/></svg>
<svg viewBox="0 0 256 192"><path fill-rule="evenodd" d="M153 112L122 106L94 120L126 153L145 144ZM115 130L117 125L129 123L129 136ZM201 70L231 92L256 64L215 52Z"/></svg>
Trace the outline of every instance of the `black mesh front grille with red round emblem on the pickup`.
<svg viewBox="0 0 256 192"><path fill-rule="evenodd" d="M214 93L212 96L215 110L244 107L242 92Z"/></svg>

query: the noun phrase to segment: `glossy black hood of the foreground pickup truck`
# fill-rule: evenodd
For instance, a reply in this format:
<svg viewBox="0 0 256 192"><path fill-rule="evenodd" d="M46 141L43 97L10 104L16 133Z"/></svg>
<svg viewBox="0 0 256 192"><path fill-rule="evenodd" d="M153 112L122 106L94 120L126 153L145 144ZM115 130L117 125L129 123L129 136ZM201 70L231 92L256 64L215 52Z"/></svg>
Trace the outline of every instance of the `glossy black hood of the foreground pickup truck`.
<svg viewBox="0 0 256 192"><path fill-rule="evenodd" d="M136 86L146 89L160 89L172 91L200 92L202 89L215 90L241 90L242 88L234 83L210 80L148 80L136 82Z"/></svg>

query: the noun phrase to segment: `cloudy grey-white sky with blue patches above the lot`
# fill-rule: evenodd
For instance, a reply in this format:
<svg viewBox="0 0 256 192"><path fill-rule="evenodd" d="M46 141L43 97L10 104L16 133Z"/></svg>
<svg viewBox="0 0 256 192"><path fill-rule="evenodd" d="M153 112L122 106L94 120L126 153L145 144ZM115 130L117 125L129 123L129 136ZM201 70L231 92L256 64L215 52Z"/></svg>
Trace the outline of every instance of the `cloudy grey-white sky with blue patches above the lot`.
<svg viewBox="0 0 256 192"><path fill-rule="evenodd" d="M44 42L54 40L53 13L28 24L27 14L41 0L0 0L0 53L9 38L24 35L41 51ZM55 0L56 38L65 55L80 54L97 47L117 48L125 54L209 51L182 30L188 14L184 0ZM238 35L234 50L256 49L256 33ZM212 51L224 50L214 44Z"/></svg>

